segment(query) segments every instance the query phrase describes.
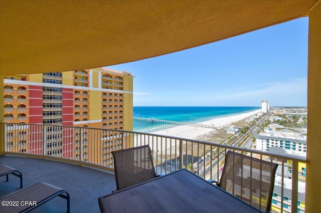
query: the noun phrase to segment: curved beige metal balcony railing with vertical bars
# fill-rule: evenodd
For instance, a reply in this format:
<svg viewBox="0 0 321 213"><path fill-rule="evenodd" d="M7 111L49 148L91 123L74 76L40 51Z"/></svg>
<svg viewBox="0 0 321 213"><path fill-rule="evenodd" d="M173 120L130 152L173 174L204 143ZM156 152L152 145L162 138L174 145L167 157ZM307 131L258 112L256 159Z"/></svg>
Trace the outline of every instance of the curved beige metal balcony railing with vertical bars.
<svg viewBox="0 0 321 213"><path fill-rule="evenodd" d="M279 176L276 178L274 190L278 187L280 191L274 192L281 197L290 193L291 198L272 197L272 201L275 201L272 202L273 211L298 212L298 209L300 212L304 211L304 205L298 205L302 201L298 200L298 188L301 165L306 163L304 157L181 137L106 129L106 127L4 123L4 154L55 159L113 172L111 151L149 144L158 174L166 174L185 167L205 179L219 180L224 166L224 156L228 150L234 150L279 164L280 172L277 173ZM19 143L22 133L26 138L26 146L23 148ZM50 146L48 144L52 140L49 138L55 138L60 143L57 143L57 146ZM290 187L285 188L285 183L290 184ZM302 194L300 199L301 196Z"/></svg>

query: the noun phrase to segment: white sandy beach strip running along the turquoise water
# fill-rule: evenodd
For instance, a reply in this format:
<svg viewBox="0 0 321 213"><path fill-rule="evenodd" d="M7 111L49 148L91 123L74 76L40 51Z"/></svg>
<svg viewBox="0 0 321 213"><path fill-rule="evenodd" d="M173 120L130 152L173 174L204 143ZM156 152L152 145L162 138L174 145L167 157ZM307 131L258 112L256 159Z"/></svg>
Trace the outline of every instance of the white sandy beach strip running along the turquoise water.
<svg viewBox="0 0 321 213"><path fill-rule="evenodd" d="M250 117L253 114L256 114L260 111L261 110L258 109L255 111L250 111L250 112L246 112L246 113L242 113L242 114L226 116L226 117L218 117L218 118L214 118L214 119L211 119L208 121L200 122L200 124L213 125L215 127L220 127L221 129L226 130L226 128L229 128L231 126L230 124L232 122L243 120L243 119ZM190 125L179 125L179 126L175 126L175 127L168 128L168 129L154 131L151 133L194 139L200 135L203 135L203 134L208 133L213 130L214 130L213 128L197 127L197 126L190 126Z"/></svg>

